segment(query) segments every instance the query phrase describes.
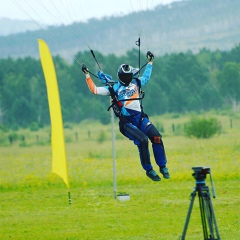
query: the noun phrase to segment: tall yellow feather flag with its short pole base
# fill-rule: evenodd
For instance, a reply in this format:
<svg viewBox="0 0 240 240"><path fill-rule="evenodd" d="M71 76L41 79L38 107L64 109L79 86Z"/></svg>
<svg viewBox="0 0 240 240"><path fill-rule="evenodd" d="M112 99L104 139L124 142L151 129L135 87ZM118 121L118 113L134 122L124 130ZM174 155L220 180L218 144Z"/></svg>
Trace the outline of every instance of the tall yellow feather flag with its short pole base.
<svg viewBox="0 0 240 240"><path fill-rule="evenodd" d="M42 39L38 39L38 44L40 60L47 85L47 95L51 119L52 172L59 175L67 185L68 200L69 204L71 204L62 111L56 71L48 45Z"/></svg>

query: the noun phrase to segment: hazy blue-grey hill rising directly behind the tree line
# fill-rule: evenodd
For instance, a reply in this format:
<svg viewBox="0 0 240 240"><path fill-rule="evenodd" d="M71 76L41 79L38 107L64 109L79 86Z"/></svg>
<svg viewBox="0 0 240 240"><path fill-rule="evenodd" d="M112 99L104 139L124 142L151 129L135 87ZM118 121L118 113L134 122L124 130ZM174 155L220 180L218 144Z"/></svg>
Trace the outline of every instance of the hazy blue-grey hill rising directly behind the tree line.
<svg viewBox="0 0 240 240"><path fill-rule="evenodd" d="M53 55L72 59L89 48L116 55L136 48L163 55L172 52L230 50L240 43L239 0L188 0L87 23L48 27L0 37L0 57L39 57L37 39L44 39Z"/></svg>

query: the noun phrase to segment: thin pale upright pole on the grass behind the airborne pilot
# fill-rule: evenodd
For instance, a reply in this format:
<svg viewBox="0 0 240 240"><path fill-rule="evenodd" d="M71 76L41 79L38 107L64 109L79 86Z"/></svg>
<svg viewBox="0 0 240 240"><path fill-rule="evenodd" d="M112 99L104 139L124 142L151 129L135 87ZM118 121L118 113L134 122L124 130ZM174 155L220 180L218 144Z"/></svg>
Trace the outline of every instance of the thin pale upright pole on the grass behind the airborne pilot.
<svg viewBox="0 0 240 240"><path fill-rule="evenodd" d="M110 103L111 98L110 98ZM115 131L114 131L114 112L111 108L111 122L112 122L112 160L113 160L113 192L114 198L117 198L117 174L116 174L116 151L115 151Z"/></svg>

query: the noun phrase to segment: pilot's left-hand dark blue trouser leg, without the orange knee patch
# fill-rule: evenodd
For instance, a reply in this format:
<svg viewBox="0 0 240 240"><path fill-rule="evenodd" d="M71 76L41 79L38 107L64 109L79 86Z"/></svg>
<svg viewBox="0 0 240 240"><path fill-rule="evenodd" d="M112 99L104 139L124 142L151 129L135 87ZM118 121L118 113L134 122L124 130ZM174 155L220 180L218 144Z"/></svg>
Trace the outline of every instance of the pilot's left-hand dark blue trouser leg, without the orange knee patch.
<svg viewBox="0 0 240 240"><path fill-rule="evenodd" d="M141 165L144 170L152 170L150 153L148 149L148 137L132 123L120 123L120 131L138 147Z"/></svg>

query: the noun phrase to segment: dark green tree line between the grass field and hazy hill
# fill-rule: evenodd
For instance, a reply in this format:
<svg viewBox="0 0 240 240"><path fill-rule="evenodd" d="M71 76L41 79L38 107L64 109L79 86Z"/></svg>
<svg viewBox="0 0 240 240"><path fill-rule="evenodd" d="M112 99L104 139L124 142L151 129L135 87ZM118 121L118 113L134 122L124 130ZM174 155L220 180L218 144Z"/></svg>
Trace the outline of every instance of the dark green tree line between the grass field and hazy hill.
<svg viewBox="0 0 240 240"><path fill-rule="evenodd" d="M138 67L138 50L125 55L107 56L95 52L104 72L117 79L122 63ZM84 63L96 74L99 66L89 51L78 52L73 63L60 56L53 61L59 85L63 121L79 123L94 119L109 123L110 99L93 96L81 72ZM81 61L77 61L81 59ZM147 59L141 53L141 66ZM141 70L141 73L144 68ZM97 86L103 86L92 76ZM149 115L200 112L232 107L240 101L240 44L231 51L201 49L197 54L155 56L153 73L144 86L143 106ZM39 59L32 57L0 59L0 125L6 127L45 126L50 124L46 84Z"/></svg>

